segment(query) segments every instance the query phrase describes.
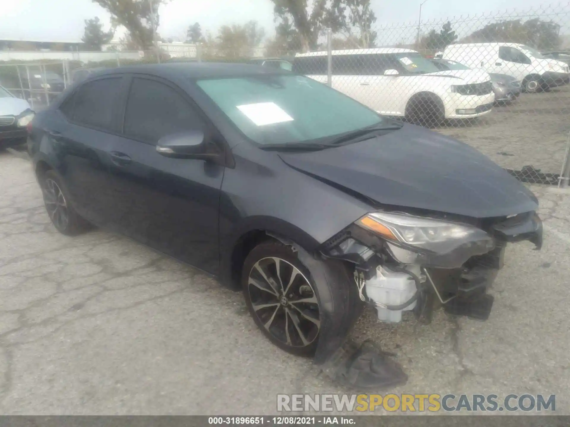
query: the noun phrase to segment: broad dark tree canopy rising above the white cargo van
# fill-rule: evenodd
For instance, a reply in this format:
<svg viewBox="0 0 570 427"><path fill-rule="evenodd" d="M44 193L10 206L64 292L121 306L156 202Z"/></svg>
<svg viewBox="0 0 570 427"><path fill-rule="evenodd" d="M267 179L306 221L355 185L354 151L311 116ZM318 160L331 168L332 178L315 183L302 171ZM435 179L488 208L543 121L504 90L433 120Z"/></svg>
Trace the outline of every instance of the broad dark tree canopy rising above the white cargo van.
<svg viewBox="0 0 570 427"><path fill-rule="evenodd" d="M528 44L539 50L556 49L560 45L560 25L539 18L487 24L474 31L463 42L511 42Z"/></svg>

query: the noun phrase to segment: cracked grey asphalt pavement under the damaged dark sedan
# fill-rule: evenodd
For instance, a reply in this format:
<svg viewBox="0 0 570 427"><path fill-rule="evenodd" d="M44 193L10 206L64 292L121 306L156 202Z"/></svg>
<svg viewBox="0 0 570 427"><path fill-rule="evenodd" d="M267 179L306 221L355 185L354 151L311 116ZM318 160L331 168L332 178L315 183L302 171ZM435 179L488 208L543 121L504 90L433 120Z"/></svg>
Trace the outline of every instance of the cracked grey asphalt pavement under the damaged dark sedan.
<svg viewBox="0 0 570 427"><path fill-rule="evenodd" d="M21 157L0 153L0 414L274 414L277 393L355 392L272 346L213 278L105 231L57 233ZM488 321L360 319L352 338L409 375L392 392L556 394L570 414L570 193L532 190L544 247L507 248Z"/></svg>

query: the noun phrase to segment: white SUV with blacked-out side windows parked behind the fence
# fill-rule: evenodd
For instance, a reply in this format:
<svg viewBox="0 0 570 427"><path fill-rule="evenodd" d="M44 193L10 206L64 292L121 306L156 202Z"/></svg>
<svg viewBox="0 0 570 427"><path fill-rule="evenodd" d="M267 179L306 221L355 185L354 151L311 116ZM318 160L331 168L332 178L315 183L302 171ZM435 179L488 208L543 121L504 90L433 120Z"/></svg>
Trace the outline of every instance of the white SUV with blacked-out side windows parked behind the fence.
<svg viewBox="0 0 570 427"><path fill-rule="evenodd" d="M297 54L293 71L327 82L327 52ZM441 72L418 52L399 48L332 51L332 87L386 116L437 125L491 111L490 76ZM462 74L462 75L459 75Z"/></svg>

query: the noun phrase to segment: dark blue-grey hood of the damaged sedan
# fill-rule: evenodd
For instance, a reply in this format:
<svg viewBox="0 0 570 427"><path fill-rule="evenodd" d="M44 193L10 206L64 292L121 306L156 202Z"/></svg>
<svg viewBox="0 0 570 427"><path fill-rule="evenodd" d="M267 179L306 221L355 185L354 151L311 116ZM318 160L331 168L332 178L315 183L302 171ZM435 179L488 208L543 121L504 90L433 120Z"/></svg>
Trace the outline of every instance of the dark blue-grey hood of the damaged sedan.
<svg viewBox="0 0 570 427"><path fill-rule="evenodd" d="M279 157L296 170L385 205L478 218L538 208L532 192L479 151L419 126Z"/></svg>

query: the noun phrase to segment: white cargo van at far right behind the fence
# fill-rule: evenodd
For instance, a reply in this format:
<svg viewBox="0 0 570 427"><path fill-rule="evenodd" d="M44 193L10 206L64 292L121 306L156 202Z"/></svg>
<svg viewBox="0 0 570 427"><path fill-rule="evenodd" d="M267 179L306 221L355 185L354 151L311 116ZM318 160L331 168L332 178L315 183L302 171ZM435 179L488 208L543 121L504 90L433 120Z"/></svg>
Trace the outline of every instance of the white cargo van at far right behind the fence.
<svg viewBox="0 0 570 427"><path fill-rule="evenodd" d="M522 81L526 92L551 88L570 81L568 64L544 58L539 51L519 43L450 44L443 51L451 59L488 73L507 74Z"/></svg>

